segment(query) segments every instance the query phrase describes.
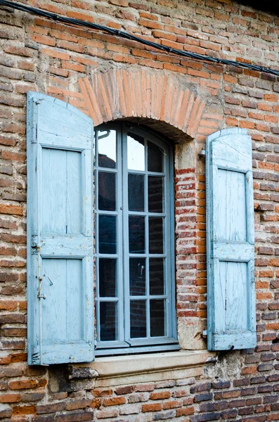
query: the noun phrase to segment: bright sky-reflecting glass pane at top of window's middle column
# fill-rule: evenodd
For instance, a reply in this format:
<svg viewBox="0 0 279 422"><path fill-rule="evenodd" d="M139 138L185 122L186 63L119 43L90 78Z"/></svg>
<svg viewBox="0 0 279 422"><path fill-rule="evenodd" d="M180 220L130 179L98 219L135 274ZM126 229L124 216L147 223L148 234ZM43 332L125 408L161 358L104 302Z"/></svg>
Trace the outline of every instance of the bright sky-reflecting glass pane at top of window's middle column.
<svg viewBox="0 0 279 422"><path fill-rule="evenodd" d="M145 170L144 139L128 132L127 156L129 170Z"/></svg>

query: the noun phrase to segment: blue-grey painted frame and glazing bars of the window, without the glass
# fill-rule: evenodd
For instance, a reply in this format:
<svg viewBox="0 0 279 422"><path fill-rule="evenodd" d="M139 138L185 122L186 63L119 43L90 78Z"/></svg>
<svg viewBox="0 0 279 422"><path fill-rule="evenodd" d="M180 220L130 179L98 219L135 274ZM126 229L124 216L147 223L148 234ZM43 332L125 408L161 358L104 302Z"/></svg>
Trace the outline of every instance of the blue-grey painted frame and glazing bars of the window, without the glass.
<svg viewBox="0 0 279 422"><path fill-rule="evenodd" d="M115 173L121 173L121 177L117 177L116 186L119 190L118 195L116 193L116 212L117 215L117 224L119 229L121 230L117 234L117 241L122 241L122 247L117 248L117 257L119 260L119 269L118 269L118 280L119 280L119 315L118 315L118 329L119 333L124 333L124 336L120 337L119 340L110 340L110 341L100 341L100 321L99 321L99 303L100 297L98 296L98 265L96 260L100 257L98 253L98 215L103 213L102 210L98 210L96 204L98 201L97 198L97 186L98 186L98 171L105 170L105 167L98 167L98 136L96 133L99 130L115 130L117 133L117 167L112 170ZM174 151L172 144L167 141L167 139L163 139L162 136L158 135L155 132L151 132L150 129L145 130L139 127L135 127L133 124L129 124L127 122L110 122L106 124L101 124L98 127L95 127L95 153L94 153L94 164L93 164L93 172L94 172L94 194L95 194L95 201L94 201L94 215L95 215L95 224L96 224L96 236L95 236L95 260L94 260L94 274L96 275L96 297L95 297L95 305L96 305L96 356L105 356L110 354L133 354L139 352L159 352L165 350L178 350L179 344L177 340L177 319L176 319L176 289L175 289L175 236L174 236ZM120 211L120 206L124 203L128 204L128 186L127 186L127 179L129 173L136 173L139 174L136 170L128 170L127 165L127 150L122 148L124 146L124 139L127 139L128 132L133 132L138 136L142 136L144 139L147 139L155 145L160 146L164 150L164 174L165 179L167 181L166 186L164 186L165 192L165 200L166 200L166 210L165 215L167 216L167 228L166 233L164 234L164 245L166 245L167 250L165 251L164 255L166 255L166 260L168 262L169 271L166 271L166 305L168 307L167 311L165 311L165 321L166 321L166 334L162 337L155 337L153 340L152 338L136 338L132 339L127 343L125 338L127 339L129 335L129 324L125 326L125 314L129 315L129 302L130 302L130 295L128 300L125 298L127 295L125 292L129 292L129 235L128 235L128 217L127 214L124 215L124 212ZM119 148L121 146L121 148ZM146 148L146 147L145 147ZM120 151L121 150L121 151ZM123 154L124 152L124 154ZM146 154L145 154L146 159ZM124 162L125 170L123 172L122 164ZM97 164L97 165L96 165ZM110 169L111 170L111 169ZM107 171L110 171L107 169ZM148 179L148 170L146 168L145 172L142 174L146 174L146 179ZM156 174L155 174L156 175ZM146 183L145 183L146 185ZM168 186L167 186L168 185ZM145 186L145 191L147 186ZM123 201L121 205L119 205L119 200ZM126 201L126 202L125 202ZM133 214L134 212L128 212L129 214ZM108 212L109 213L109 212ZM137 213L137 212L136 212ZM135 214L136 214L135 213ZM113 212L112 212L113 214ZM148 210L145 208L145 215L148 215ZM124 224L126 222L126 227ZM145 229L146 230L146 229ZM145 231L145 235L147 232ZM165 238L167 236L167 238ZM123 241L124 240L124 241ZM148 238L145 236L145 243L148 242ZM135 254L136 255L136 254ZM149 255L146 253L145 255ZM113 255L115 256L115 255ZM122 264L121 264L122 263ZM122 271L122 266L124 267ZM121 268L120 268L121 267ZM168 276L169 274L169 276ZM121 281L121 282L120 282ZM148 299L150 295L145 295ZM107 301L105 299L104 301ZM120 304L122 303L122 306ZM148 314L146 310L146 314ZM146 324L148 324L148 317L146 319ZM122 325L124 327L122 327ZM125 337L126 333L126 337Z"/></svg>

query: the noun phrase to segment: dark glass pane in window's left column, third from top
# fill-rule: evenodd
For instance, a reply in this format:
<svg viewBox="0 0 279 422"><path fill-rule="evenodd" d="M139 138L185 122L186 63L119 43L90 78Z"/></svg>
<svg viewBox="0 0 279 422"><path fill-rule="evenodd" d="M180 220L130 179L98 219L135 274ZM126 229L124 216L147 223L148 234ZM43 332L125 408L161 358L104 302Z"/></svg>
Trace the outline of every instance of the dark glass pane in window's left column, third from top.
<svg viewBox="0 0 279 422"><path fill-rule="evenodd" d="M99 215L99 253L116 250L116 215Z"/></svg>

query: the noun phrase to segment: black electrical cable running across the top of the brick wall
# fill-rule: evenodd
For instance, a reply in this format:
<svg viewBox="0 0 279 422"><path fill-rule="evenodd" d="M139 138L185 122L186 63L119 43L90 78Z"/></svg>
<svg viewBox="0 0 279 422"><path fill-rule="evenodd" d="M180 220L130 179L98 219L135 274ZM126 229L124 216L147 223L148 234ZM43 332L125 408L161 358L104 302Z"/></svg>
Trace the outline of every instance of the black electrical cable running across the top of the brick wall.
<svg viewBox="0 0 279 422"><path fill-rule="evenodd" d="M265 68L264 66L259 65L251 65L249 63L243 63L243 62L237 62L235 60L227 60L225 58L216 58L211 56L204 56L203 54L197 54L197 53L191 53L190 51L183 51L179 49L172 49L168 46L162 46L160 44L157 44L152 41L147 41L145 39L142 39L140 37L136 37L135 35L129 34L128 32L120 31L120 30L113 30L112 28L105 27L103 25L98 25L96 23L87 22L86 20L81 19L73 19L73 18L66 18L62 15L57 15L56 13L51 13L47 11L42 11L37 8L33 8L30 6L25 6L23 4L15 3L13 1L8 0L0 0L0 5L11 7L18 11L24 11L27 13L31 13L32 15L42 16L43 18L53 19L58 22L70 24L70 25L78 25L82 27L91 28L92 30L100 30L103 32L107 32L108 34L116 35L117 37L125 38L125 39L131 39L132 41L139 42L141 44L144 44L146 46L154 47L155 49L159 49L162 51L167 51L168 53L176 54L177 56L181 57L188 57L193 60L202 60L207 61L209 63L218 63L221 65L229 65L229 66L235 66L236 68L241 69L250 69L250 70L256 70L257 72L264 72L269 73L271 75L279 76L278 70L273 70L269 68Z"/></svg>

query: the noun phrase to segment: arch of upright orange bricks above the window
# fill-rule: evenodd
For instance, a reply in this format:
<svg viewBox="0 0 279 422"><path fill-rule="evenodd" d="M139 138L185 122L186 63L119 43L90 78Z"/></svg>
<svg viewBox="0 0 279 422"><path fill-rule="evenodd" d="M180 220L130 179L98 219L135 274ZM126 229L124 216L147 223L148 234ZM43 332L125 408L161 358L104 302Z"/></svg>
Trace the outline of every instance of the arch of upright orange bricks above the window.
<svg viewBox="0 0 279 422"><path fill-rule="evenodd" d="M205 101L179 79L156 70L111 69L79 79L87 112L97 126L145 117L166 122L195 138L205 120Z"/></svg>

